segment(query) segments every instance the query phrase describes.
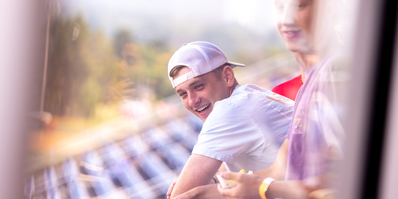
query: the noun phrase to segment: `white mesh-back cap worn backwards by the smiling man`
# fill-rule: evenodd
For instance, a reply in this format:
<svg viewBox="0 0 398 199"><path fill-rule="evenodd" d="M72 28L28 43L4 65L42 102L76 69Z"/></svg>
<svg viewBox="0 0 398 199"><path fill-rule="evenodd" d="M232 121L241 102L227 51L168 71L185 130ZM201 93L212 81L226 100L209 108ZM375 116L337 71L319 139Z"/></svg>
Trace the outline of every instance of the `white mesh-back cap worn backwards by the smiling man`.
<svg viewBox="0 0 398 199"><path fill-rule="evenodd" d="M204 41L195 41L182 45L179 50L174 52L168 62L167 74L173 88L175 88L180 83L206 74L225 63L232 68L245 66L228 61L225 53L216 45ZM176 66L187 66L191 71L173 80L170 77L170 71Z"/></svg>

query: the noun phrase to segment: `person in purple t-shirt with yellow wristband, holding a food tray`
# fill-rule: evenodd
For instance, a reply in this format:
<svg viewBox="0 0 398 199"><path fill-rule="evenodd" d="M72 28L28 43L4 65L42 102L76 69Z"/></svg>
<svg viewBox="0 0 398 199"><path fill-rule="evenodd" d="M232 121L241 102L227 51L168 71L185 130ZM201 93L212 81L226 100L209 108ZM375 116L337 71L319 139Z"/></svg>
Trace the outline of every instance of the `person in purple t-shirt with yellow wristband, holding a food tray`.
<svg viewBox="0 0 398 199"><path fill-rule="evenodd" d="M345 139L336 101L341 75L341 35L336 0L275 0L277 28L295 56L304 84L298 90L293 118L275 163L254 175L222 173L237 186L218 191L234 198L308 198L330 190L333 168ZM319 14L322 16L319 17ZM318 16L318 17L316 17Z"/></svg>

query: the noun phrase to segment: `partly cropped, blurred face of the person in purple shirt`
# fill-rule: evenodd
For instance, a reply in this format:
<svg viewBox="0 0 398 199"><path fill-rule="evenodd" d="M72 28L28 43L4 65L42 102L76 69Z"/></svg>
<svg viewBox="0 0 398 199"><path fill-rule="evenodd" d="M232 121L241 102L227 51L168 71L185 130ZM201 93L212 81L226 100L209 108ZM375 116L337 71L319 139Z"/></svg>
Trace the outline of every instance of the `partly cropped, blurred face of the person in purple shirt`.
<svg viewBox="0 0 398 199"><path fill-rule="evenodd" d="M286 48L293 52L311 52L314 46L316 0L275 0L278 32Z"/></svg>

